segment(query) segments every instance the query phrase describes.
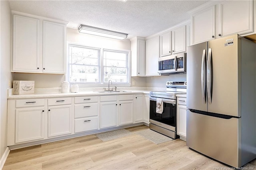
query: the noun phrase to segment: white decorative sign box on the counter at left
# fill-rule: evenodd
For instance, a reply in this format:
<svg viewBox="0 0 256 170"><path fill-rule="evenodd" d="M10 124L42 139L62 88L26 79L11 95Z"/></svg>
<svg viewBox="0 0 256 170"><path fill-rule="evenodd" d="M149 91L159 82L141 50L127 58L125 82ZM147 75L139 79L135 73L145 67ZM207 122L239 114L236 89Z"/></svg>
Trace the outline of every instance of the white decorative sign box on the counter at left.
<svg viewBox="0 0 256 170"><path fill-rule="evenodd" d="M13 81L13 94L14 95L23 95L23 94L32 94L35 89L35 81Z"/></svg>

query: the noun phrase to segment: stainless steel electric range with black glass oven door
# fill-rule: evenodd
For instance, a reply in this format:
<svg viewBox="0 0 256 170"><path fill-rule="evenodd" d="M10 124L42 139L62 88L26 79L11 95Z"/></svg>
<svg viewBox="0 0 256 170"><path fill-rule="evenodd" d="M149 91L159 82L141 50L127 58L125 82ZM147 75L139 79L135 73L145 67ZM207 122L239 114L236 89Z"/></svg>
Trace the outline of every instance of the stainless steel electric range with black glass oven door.
<svg viewBox="0 0 256 170"><path fill-rule="evenodd" d="M176 133L176 95L186 94L186 81L167 81L166 91L150 92L150 129L171 138L178 138ZM163 111L156 112L157 99L162 99Z"/></svg>

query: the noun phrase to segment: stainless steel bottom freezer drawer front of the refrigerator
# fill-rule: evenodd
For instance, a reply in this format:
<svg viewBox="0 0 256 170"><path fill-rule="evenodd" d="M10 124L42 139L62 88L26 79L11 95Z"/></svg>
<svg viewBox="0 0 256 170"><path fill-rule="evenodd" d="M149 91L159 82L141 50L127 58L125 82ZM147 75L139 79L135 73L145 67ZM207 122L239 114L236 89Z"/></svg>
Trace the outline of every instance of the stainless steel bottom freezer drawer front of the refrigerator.
<svg viewBox="0 0 256 170"><path fill-rule="evenodd" d="M238 161L238 125L241 118L222 119L192 113L187 109L186 145L206 156L234 167Z"/></svg>

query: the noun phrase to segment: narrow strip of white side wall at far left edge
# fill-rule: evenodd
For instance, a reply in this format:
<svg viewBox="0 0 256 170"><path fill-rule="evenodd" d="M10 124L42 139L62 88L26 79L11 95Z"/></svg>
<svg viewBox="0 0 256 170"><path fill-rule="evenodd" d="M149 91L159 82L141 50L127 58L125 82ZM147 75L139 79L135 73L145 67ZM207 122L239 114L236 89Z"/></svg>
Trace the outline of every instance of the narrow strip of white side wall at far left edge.
<svg viewBox="0 0 256 170"><path fill-rule="evenodd" d="M0 158L7 148L7 89L12 81L11 10L8 1L0 1Z"/></svg>

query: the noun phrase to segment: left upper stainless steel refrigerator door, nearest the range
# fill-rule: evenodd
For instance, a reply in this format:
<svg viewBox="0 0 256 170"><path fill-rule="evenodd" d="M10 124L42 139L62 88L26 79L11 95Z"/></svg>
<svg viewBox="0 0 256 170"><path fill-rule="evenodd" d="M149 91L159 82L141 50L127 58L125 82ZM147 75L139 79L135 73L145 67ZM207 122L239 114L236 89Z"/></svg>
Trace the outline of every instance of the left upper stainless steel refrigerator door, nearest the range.
<svg viewBox="0 0 256 170"><path fill-rule="evenodd" d="M187 48L187 108L207 111L207 42Z"/></svg>

